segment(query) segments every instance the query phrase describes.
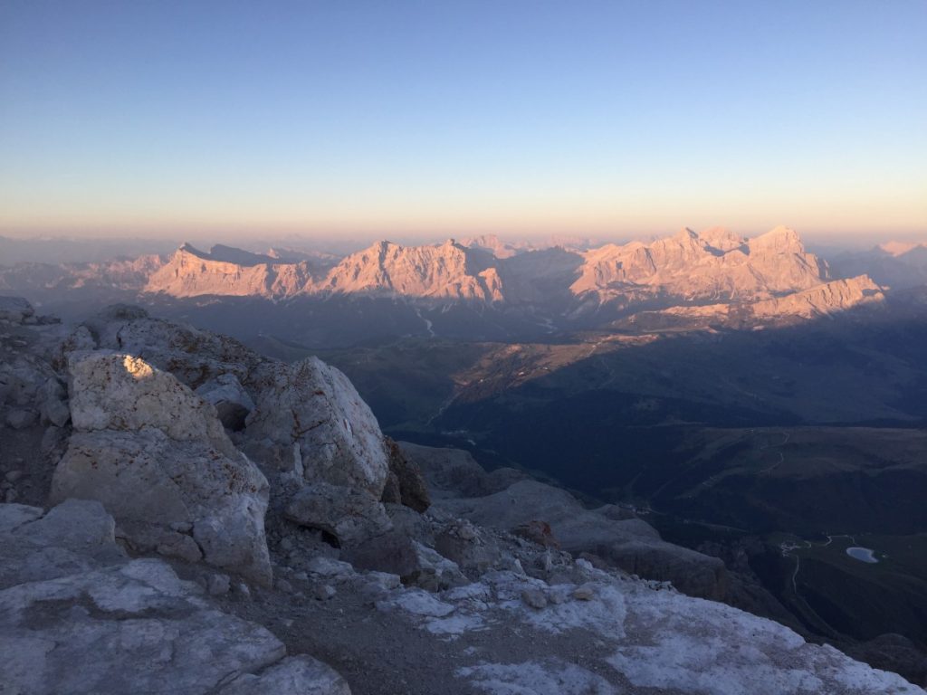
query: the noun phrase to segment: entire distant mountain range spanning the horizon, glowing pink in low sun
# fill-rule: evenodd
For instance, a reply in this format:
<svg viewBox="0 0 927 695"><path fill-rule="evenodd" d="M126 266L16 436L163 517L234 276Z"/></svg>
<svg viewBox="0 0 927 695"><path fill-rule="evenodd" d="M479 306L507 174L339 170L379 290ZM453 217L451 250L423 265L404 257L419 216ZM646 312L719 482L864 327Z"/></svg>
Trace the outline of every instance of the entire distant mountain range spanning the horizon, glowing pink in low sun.
<svg viewBox="0 0 927 695"><path fill-rule="evenodd" d="M917 248L896 256L885 252L892 259L917 254ZM0 289L39 302L62 290L172 299L387 297L445 310L462 303L528 311L555 324L588 320L590 314L612 320L642 310L673 310L678 317L679 308L692 307L699 309L682 314L723 317L753 308L768 320L880 301L881 283L855 262L843 259L841 268L855 274L835 277L827 261L808 253L798 234L785 227L751 239L721 228L701 234L684 229L650 243L590 249L506 245L489 236L424 246L381 241L340 259L222 245L207 252L184 244L167 257L19 263L0 268ZM883 281L891 279L885 276Z"/></svg>

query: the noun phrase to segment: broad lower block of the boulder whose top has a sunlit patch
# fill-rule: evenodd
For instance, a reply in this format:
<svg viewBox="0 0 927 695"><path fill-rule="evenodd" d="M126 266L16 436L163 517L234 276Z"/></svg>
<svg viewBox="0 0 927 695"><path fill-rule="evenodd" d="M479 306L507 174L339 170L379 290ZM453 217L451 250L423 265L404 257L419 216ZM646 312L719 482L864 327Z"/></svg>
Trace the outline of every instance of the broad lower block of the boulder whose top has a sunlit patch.
<svg viewBox="0 0 927 695"><path fill-rule="evenodd" d="M136 550L193 561L193 544L206 562L270 583L267 482L243 458L158 429L76 433L50 495L52 503L69 497L101 501ZM171 530L177 522L192 524L193 537Z"/></svg>

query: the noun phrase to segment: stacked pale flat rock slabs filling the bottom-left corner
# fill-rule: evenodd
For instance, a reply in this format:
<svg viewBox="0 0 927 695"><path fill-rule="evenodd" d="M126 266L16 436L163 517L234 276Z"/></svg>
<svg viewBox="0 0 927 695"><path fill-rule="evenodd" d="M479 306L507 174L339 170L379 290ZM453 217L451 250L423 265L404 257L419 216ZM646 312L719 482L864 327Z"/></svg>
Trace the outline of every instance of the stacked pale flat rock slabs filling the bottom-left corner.
<svg viewBox="0 0 927 695"><path fill-rule="evenodd" d="M0 692L349 695L165 562L129 561L114 525L96 502L0 505Z"/></svg>

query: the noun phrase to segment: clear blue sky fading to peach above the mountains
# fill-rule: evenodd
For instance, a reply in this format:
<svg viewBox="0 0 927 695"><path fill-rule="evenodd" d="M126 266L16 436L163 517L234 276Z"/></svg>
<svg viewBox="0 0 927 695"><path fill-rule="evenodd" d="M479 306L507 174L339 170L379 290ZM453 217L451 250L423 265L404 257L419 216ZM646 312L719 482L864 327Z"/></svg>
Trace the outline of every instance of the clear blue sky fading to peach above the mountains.
<svg viewBox="0 0 927 695"><path fill-rule="evenodd" d="M927 0L0 2L0 234L927 238Z"/></svg>

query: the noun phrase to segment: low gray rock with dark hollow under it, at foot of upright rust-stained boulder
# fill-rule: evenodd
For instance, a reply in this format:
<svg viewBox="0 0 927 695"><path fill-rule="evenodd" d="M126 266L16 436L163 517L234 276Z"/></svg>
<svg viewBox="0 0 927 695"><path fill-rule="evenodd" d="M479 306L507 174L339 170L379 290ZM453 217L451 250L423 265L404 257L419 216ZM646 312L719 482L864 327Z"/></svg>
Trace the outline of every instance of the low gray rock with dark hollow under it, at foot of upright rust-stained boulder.
<svg viewBox="0 0 927 695"><path fill-rule="evenodd" d="M287 519L336 537L343 547L382 536L392 528L380 502L349 487L316 483L303 487L286 505Z"/></svg>

